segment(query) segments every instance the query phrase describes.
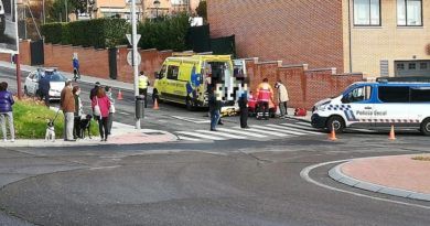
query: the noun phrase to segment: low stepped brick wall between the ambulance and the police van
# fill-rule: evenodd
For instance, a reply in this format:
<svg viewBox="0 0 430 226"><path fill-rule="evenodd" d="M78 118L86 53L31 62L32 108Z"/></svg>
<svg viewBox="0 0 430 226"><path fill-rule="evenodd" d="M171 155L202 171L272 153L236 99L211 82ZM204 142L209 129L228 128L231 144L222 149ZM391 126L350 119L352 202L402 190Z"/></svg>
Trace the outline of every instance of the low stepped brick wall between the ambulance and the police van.
<svg viewBox="0 0 430 226"><path fill-rule="evenodd" d="M289 106L307 109L321 99L338 95L348 85L363 80L363 74L336 74L335 68L308 69L307 64L284 66L279 61L260 63L258 58L252 58L247 61L246 66L252 92L264 78L268 78L272 87L280 79L287 86Z"/></svg>

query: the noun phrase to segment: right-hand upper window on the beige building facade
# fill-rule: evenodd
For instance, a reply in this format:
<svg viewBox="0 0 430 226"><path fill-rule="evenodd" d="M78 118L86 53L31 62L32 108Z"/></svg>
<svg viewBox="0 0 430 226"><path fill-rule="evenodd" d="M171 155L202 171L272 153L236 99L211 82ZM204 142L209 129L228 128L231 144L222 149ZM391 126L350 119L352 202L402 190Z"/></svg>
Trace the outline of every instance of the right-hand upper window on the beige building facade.
<svg viewBox="0 0 430 226"><path fill-rule="evenodd" d="M397 25L422 25L422 0L397 0Z"/></svg>

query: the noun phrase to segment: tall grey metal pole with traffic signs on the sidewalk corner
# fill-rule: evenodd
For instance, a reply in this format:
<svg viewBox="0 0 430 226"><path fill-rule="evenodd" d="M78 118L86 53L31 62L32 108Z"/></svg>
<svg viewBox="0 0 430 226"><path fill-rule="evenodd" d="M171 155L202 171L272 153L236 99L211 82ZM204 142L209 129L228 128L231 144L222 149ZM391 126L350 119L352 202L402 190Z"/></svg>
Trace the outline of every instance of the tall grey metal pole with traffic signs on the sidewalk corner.
<svg viewBox="0 0 430 226"><path fill-rule="evenodd" d="M132 45L132 67L133 67L133 77L135 77L135 98L136 101L138 100L139 96L139 68L138 63L136 62L137 54L138 54L138 42L137 42L137 24L136 24L136 0L131 0L131 45ZM136 112L138 109L135 109ZM137 114L135 114L137 116ZM140 117L136 117L136 129L140 129Z"/></svg>

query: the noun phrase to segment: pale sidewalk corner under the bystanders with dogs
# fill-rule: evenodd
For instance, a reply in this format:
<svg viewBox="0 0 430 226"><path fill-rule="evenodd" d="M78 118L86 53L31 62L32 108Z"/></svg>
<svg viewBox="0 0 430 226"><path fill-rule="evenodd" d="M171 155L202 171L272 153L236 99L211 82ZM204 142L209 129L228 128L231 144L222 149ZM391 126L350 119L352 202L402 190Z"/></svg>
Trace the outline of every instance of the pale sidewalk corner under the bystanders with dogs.
<svg viewBox="0 0 430 226"><path fill-rule="evenodd" d="M77 141L64 141L63 138L56 138L53 141L45 141L43 139L17 139L14 142L0 141L0 146L8 147L76 147L76 146L101 146L101 144L138 144L138 143L164 143L176 141L178 137L166 131L141 129L136 130L132 126L115 122L112 123L112 134L107 142L100 141L99 136L92 136L93 139L86 137Z"/></svg>

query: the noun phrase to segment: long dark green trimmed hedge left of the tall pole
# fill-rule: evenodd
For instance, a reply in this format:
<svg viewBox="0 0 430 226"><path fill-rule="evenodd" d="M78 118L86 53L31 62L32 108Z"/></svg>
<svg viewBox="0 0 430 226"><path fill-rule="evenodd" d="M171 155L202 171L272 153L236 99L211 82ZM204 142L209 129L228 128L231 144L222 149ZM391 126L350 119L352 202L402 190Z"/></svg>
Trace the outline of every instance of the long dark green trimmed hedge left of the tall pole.
<svg viewBox="0 0 430 226"><path fill-rule="evenodd" d="M106 18L42 25L42 34L47 43L94 46L96 49L125 44L128 30L129 24L126 20Z"/></svg>

